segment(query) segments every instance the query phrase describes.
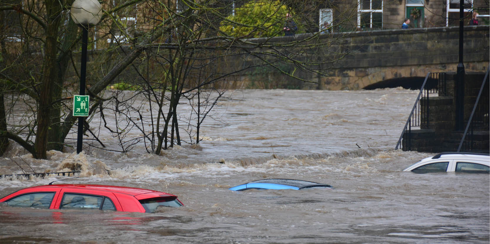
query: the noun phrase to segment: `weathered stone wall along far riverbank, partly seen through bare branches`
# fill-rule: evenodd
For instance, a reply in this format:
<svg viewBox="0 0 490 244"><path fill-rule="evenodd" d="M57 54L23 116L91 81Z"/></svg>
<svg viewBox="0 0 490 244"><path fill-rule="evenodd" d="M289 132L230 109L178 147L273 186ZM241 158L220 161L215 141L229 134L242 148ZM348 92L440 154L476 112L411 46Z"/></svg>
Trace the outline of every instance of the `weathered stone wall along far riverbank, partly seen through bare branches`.
<svg viewBox="0 0 490 244"><path fill-rule="evenodd" d="M485 71L489 67L489 28L488 25L466 26L464 39L464 64L466 71ZM302 39L311 34L300 34L293 39ZM320 36L323 41L334 40L332 44L319 52L342 51L348 54L340 61L321 65L320 71L326 76L314 72L296 70L295 75L306 81L300 81L279 73L271 66L260 66L247 69L235 75L227 76L223 81L214 83L220 89L328 89L328 90L357 90L363 89L381 81L402 81L406 78L423 78L428 72L455 71L458 64L459 28L435 27L408 30L381 30L332 33ZM251 41L263 41L253 39ZM272 42L292 41L291 37L275 37ZM129 47L128 47L129 48ZM115 50L117 51L117 50ZM126 50L128 51L128 50ZM87 64L87 84L93 84L101 79L105 70L122 59L124 53L111 60L100 60L97 52L89 54ZM80 60L78 57L74 61ZM92 63L93 62L93 63ZM247 54L242 56L224 57L217 65L221 73L236 70L248 64L259 63ZM97 63L103 63L99 68ZM91 66L92 65L92 66ZM147 67L148 65L148 67ZM79 67L79 64L75 65ZM145 77L161 74L165 66L158 63L142 61L136 63ZM91 67L91 68L90 68ZM293 72L293 66L281 67L287 72ZM73 82L76 83L74 72ZM128 67L115 82L140 81L141 77L134 68ZM413 82L410 79L403 82Z"/></svg>

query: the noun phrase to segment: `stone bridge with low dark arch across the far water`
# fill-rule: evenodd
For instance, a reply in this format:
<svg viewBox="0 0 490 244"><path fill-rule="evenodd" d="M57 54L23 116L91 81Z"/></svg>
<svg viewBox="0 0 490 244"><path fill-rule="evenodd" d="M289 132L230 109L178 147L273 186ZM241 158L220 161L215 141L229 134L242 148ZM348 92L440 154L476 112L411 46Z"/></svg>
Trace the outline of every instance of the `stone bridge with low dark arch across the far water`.
<svg viewBox="0 0 490 244"><path fill-rule="evenodd" d="M272 69L248 71L217 84L220 88L294 88L356 90L378 87L419 88L428 72L456 71L459 27L394 29L327 34L349 54L322 71L328 76L301 72L297 81ZM296 38L301 38L297 35ZM290 38L290 37L280 37ZM278 41L278 40L274 40ZM280 41L280 40L279 40ZM335 47L334 47L335 48ZM489 67L489 25L465 26L466 71L485 72ZM267 73L264 74L264 73ZM259 74L259 75L258 75Z"/></svg>

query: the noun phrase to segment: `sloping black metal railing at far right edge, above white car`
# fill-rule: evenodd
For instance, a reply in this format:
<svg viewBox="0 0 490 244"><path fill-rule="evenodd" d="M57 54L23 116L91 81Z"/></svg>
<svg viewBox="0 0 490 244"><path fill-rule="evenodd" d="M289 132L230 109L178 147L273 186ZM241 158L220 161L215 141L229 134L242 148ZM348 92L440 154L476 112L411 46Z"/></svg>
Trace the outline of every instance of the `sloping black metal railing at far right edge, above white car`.
<svg viewBox="0 0 490 244"><path fill-rule="evenodd" d="M469 116L468 122L466 123L466 129L463 133L463 138L461 138L458 152L460 151L473 151L475 149L475 135L476 131L488 131L489 124L489 111L490 111L490 101L489 101L489 71L485 74L485 78L482 81L480 91L476 97L475 104L473 105L473 110ZM481 137L487 137L486 133L479 135ZM481 141L481 140L478 140ZM478 147L476 147L478 148ZM481 148L481 147L480 147Z"/></svg>

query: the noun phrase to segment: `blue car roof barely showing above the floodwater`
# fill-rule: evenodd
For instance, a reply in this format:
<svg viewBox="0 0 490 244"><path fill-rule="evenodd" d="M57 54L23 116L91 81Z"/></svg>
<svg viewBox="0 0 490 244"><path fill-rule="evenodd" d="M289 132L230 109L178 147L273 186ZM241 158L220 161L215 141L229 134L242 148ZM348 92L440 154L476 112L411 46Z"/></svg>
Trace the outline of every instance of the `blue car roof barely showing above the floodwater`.
<svg viewBox="0 0 490 244"><path fill-rule="evenodd" d="M232 191L243 191L248 189L299 190L299 189L311 188L311 187L333 188L329 184L322 184L322 183L309 182L309 181L292 180L292 179L264 179L264 180L258 180L258 181L237 185L229 189Z"/></svg>

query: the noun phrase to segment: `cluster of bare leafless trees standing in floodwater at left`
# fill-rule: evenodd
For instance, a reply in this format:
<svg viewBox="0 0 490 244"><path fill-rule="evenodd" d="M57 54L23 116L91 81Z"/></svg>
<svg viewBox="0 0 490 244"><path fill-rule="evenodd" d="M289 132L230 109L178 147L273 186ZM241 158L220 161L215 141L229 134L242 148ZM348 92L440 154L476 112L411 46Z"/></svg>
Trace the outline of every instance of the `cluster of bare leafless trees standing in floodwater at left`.
<svg viewBox="0 0 490 244"><path fill-rule="evenodd" d="M3 63L10 64L0 70L2 94L10 97L2 109L5 115L0 113L0 137L21 144L35 158L46 158L47 150L62 150L65 138L73 133L76 120L71 115L70 98L77 92L76 54L80 34L69 18L72 0L24 2L0 0L0 12L19 17L12 25L17 29L2 32L0 38ZM275 12L280 9L294 12L299 27L296 36L282 39L278 38L282 36L281 31L269 31L277 26L282 29L285 16L264 19L249 16L256 18L255 24L229 18L233 9L245 1L106 3L104 16L91 34L94 50L87 69L90 72L87 93L95 102L91 104L86 123L100 116L104 121L101 126L118 138L123 152L144 142L148 152L160 154L174 143L181 144L181 128L186 128L189 143L200 141L199 127L204 119L213 117L212 108L223 98L219 84L230 77L266 66L301 82L315 82L305 79L301 73L316 74L313 78L326 75L322 69L342 59L348 50L329 48L342 35L317 32L318 23L312 20L311 13L318 12L325 3L276 2L270 5L277 8ZM335 6L334 2L331 4ZM352 9L336 11L345 20L332 24L332 28L348 24L355 17ZM233 35L221 30L222 25L251 28L244 35ZM251 38L258 32L272 34ZM12 36L19 36L16 48L6 41ZM133 91L107 89L118 81L129 84ZM184 103L192 107L187 115L178 110ZM13 120L5 120L6 124L2 125L2 117L18 120L13 115L17 111L24 111L22 128L16 127L18 123ZM109 114L115 121L104 120ZM127 134L135 129L142 132L141 136ZM85 132L97 141L97 133L89 129ZM103 147L101 142L98 144ZM0 141L0 145L4 146L5 142Z"/></svg>

